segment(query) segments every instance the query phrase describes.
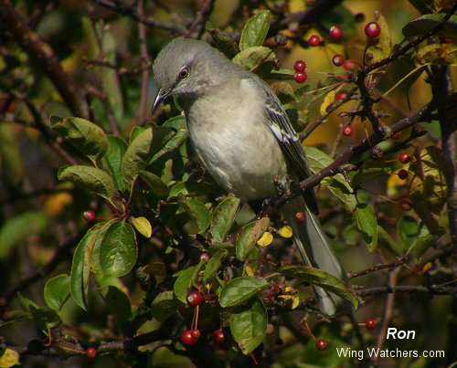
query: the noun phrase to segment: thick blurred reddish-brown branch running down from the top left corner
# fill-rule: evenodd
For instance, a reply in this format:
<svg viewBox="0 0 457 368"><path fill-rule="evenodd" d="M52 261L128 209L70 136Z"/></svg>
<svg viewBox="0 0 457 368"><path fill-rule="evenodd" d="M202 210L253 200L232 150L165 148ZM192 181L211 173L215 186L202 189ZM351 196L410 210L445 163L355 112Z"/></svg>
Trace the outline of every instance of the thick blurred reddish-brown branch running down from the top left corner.
<svg viewBox="0 0 457 368"><path fill-rule="evenodd" d="M0 0L0 19L5 25L2 29L5 28L24 49L28 58L42 68L69 110L74 115L89 119L89 105L80 89L62 68L52 47L27 26L26 20L16 11L10 0Z"/></svg>

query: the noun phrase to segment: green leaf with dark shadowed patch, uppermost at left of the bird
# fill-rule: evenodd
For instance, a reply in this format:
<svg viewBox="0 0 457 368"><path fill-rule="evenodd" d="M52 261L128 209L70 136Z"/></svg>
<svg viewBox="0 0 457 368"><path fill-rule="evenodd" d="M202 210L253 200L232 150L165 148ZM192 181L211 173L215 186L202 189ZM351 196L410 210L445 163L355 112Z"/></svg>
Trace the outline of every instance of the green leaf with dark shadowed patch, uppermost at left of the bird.
<svg viewBox="0 0 457 368"><path fill-rule="evenodd" d="M95 161L108 149L108 138L98 125L81 118L51 116L52 128L82 154Z"/></svg>

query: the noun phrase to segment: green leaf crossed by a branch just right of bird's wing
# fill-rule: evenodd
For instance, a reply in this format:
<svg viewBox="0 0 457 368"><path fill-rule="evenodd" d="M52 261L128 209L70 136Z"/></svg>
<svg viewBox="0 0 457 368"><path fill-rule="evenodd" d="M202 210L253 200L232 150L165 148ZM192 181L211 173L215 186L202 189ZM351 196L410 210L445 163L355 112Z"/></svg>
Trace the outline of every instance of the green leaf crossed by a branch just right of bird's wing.
<svg viewBox="0 0 457 368"><path fill-rule="evenodd" d="M306 153L308 163L313 173L321 171L324 169L324 167L334 162L332 157L315 147L303 146L303 150ZM348 210L352 211L354 208L356 208L357 203L355 195L347 194L352 193L351 185L345 181L345 177L341 173L337 173L336 175L332 176L332 178L338 181L340 184L337 185L335 184L334 180L327 178L325 178L321 183L327 186L330 192L332 192L341 202L343 202ZM344 190L343 187L345 187L346 190Z"/></svg>

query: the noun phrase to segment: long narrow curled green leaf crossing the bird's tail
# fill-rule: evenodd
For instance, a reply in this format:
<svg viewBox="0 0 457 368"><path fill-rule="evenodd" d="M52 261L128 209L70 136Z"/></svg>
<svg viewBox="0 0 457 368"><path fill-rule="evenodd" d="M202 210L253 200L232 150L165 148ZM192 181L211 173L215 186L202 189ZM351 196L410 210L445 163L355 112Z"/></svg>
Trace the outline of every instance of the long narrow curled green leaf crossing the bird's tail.
<svg viewBox="0 0 457 368"><path fill-rule="evenodd" d="M354 292L347 289L345 283L341 279L336 278L334 275L325 272L322 269L309 266L285 266L280 268L278 272L290 278L303 279L314 286L333 292L338 297L349 301L354 309L358 306L358 300L356 299Z"/></svg>

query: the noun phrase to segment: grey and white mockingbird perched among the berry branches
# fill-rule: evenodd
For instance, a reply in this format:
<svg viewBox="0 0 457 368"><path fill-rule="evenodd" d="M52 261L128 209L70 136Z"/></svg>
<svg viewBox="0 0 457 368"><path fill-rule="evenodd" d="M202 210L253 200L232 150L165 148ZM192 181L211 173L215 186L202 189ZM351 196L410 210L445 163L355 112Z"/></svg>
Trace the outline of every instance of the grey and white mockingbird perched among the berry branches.
<svg viewBox="0 0 457 368"><path fill-rule="evenodd" d="M153 110L169 96L184 109L197 156L218 184L244 201L276 194L273 177L303 180L310 175L303 148L271 88L233 64L216 48L195 39L176 38L157 56L158 89ZM305 213L303 222L297 212ZM314 192L282 207L306 265L345 279L324 236ZM342 300L314 287L321 310L335 314Z"/></svg>

